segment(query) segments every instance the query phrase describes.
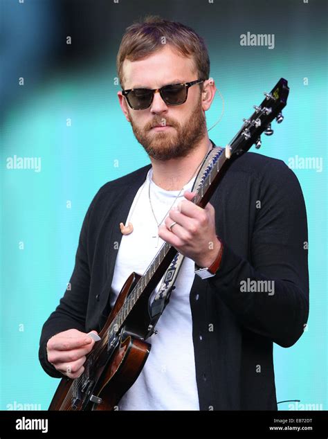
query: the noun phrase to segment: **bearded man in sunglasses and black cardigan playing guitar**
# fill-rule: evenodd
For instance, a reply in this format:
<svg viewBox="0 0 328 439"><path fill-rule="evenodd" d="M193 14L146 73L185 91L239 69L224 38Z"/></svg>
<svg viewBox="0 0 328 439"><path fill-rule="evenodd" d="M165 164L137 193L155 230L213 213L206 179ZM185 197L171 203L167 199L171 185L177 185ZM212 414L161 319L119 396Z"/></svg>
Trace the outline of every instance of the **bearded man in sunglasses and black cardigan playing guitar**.
<svg viewBox="0 0 328 439"><path fill-rule="evenodd" d="M42 329L42 367L52 377L83 373L95 343L86 334L102 328L129 274L143 274L166 241L185 260L119 409L276 410L273 342L292 346L309 312L298 180L282 161L248 152L206 208L195 206L190 190L214 146L203 40L149 17L127 28L117 66L120 107L151 165L105 184L91 202L70 287ZM195 276L195 265L213 276Z"/></svg>

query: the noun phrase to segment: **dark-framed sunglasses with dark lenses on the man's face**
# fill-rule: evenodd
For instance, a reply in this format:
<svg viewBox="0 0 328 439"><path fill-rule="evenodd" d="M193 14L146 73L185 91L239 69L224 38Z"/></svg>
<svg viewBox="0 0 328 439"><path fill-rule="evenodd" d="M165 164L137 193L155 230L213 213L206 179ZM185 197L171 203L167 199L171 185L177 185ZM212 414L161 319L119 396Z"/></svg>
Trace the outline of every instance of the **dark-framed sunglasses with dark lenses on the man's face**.
<svg viewBox="0 0 328 439"><path fill-rule="evenodd" d="M167 105L181 105L188 98L188 89L195 84L201 84L203 79L183 84L168 84L161 89L129 89L122 90L122 95L127 98L127 103L132 109L146 109L152 105L155 91L159 91L161 98Z"/></svg>

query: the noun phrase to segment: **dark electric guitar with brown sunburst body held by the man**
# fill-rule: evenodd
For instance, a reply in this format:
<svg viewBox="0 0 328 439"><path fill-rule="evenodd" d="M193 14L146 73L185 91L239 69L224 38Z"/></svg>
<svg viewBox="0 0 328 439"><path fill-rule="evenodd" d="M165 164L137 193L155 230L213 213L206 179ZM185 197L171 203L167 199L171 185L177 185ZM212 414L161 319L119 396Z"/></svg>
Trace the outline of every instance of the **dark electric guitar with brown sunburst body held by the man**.
<svg viewBox="0 0 328 439"><path fill-rule="evenodd" d="M203 179L194 204L204 208L227 172L230 163L255 144L261 146L260 135L273 134L271 122L283 120L289 87L283 78L271 93L264 93L261 105L226 145L216 154L212 167ZM164 242L151 264L141 276L132 273L125 281L104 327L100 341L87 355L80 377L63 377L48 410L113 410L122 395L134 384L149 355L151 344L146 340L154 333L158 320L149 312L149 298L177 254Z"/></svg>

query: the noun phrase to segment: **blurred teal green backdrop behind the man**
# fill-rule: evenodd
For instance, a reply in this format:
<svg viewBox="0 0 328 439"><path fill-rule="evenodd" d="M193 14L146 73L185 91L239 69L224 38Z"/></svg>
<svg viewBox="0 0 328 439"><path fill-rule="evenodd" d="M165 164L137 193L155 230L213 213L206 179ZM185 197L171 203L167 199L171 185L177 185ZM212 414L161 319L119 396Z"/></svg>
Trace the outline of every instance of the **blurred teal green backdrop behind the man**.
<svg viewBox="0 0 328 439"><path fill-rule="evenodd" d="M1 410L17 404L48 408L59 381L39 365L39 336L73 271L86 209L104 183L149 163L120 111L115 70L125 27L145 13L182 21L205 38L210 75L224 96L224 116L210 131L217 145L230 141L263 91L280 77L289 81L284 122L273 126L274 136L262 138L259 153L287 164L296 156L313 158L317 165L293 168L307 206L310 316L298 343L275 346L277 400L327 410L325 3L263 3L120 1L107 10L107 44L75 69L48 69L33 87L29 78L19 86L21 66L12 71L16 93L25 87L25 94L6 107L1 127ZM275 47L241 46L240 35L248 31L274 34ZM221 110L217 95L206 114L208 127ZM14 156L40 158L39 172L9 169Z"/></svg>

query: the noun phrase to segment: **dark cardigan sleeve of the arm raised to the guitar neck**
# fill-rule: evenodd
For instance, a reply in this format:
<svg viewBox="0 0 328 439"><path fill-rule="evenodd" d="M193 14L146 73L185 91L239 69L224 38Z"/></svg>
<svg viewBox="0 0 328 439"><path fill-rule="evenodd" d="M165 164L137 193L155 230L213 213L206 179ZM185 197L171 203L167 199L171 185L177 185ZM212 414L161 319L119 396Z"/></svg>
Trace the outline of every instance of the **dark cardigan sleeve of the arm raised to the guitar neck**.
<svg viewBox="0 0 328 439"><path fill-rule="evenodd" d="M307 214L298 179L281 161L264 170L259 194L250 260L224 242L207 281L241 325L289 347L309 314Z"/></svg>

